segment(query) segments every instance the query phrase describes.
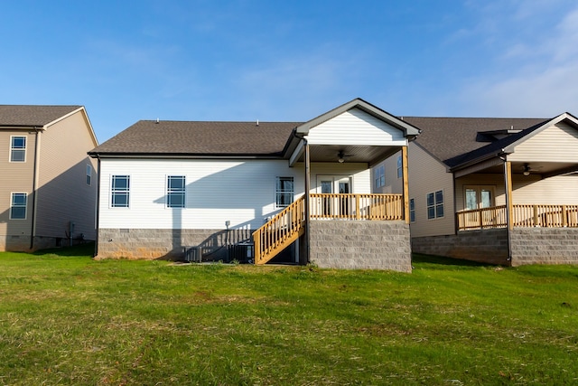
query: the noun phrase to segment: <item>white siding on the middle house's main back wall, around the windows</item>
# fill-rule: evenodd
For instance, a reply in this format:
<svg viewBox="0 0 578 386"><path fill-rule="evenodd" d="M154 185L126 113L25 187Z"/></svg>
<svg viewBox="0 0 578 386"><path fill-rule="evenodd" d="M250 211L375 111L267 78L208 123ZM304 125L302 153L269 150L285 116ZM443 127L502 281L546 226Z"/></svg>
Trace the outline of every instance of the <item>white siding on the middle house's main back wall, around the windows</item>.
<svg viewBox="0 0 578 386"><path fill-rule="evenodd" d="M231 229L256 230L275 208L275 179L294 178L294 199L303 195L303 164L286 160L130 160L102 159L100 228L115 229ZM130 174L130 208L109 206L111 176ZM316 174L351 176L353 193L370 193L366 164L312 164ZM167 211L166 177L186 178L186 211ZM312 192L315 186L312 184Z"/></svg>

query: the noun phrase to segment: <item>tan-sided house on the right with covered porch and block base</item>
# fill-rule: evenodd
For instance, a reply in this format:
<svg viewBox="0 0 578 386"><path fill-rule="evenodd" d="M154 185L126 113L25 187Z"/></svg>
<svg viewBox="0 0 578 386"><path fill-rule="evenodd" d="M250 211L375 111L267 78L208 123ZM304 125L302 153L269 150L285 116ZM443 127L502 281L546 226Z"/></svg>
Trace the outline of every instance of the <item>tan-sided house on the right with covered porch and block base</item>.
<svg viewBox="0 0 578 386"><path fill-rule="evenodd" d="M408 148L414 252L578 263L577 118L404 121L422 129ZM374 167L374 192L400 192L398 159Z"/></svg>

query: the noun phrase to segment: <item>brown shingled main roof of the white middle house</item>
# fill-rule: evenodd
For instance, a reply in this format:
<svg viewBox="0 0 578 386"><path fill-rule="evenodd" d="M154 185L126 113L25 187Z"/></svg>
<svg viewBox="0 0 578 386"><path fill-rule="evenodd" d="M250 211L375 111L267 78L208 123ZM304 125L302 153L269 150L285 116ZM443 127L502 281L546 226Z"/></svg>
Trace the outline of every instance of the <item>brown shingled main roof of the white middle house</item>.
<svg viewBox="0 0 578 386"><path fill-rule="evenodd" d="M282 155L298 122L141 120L90 155Z"/></svg>

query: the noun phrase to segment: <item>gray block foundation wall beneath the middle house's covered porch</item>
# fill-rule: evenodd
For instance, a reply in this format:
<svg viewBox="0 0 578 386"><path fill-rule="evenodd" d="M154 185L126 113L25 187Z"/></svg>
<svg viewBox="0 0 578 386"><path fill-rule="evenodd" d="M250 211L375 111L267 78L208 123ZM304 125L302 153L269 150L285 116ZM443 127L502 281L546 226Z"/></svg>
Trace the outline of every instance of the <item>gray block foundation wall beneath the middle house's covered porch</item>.
<svg viewBox="0 0 578 386"><path fill-rule="evenodd" d="M404 221L311 221L310 260L320 268L411 272Z"/></svg>

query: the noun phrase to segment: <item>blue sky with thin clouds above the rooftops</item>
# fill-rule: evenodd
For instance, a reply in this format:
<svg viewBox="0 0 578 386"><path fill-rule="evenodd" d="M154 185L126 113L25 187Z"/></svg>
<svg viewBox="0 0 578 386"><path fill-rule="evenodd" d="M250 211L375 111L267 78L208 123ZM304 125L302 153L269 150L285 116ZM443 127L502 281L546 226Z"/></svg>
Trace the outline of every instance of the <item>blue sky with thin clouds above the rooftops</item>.
<svg viewBox="0 0 578 386"><path fill-rule="evenodd" d="M578 115L575 0L18 0L0 104L139 119L305 121L354 98L397 116Z"/></svg>

